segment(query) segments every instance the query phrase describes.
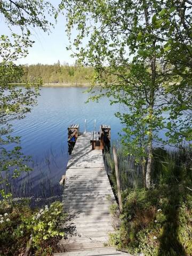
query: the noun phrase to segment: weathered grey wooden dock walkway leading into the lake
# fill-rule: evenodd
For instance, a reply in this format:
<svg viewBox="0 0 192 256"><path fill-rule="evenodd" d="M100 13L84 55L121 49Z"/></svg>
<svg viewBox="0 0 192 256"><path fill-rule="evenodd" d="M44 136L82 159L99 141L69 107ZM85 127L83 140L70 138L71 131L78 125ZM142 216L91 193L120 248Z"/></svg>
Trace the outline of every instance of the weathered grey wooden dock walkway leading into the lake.
<svg viewBox="0 0 192 256"><path fill-rule="evenodd" d="M77 138L67 165L63 192L66 237L60 245L66 250L54 255L129 255L105 247L108 234L118 225L110 213L116 203L103 163L102 150L92 150L91 133Z"/></svg>

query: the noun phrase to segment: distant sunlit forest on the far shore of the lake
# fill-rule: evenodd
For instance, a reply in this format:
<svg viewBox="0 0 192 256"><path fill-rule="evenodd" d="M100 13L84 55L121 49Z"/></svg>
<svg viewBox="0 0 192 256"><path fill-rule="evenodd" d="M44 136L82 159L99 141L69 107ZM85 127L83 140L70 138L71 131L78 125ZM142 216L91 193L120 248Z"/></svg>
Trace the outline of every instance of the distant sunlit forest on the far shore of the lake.
<svg viewBox="0 0 192 256"><path fill-rule="evenodd" d="M87 84L87 78L93 75L93 71L90 67L61 65L59 61L53 65L23 65L24 73L19 82L34 82L41 77L43 83Z"/></svg>

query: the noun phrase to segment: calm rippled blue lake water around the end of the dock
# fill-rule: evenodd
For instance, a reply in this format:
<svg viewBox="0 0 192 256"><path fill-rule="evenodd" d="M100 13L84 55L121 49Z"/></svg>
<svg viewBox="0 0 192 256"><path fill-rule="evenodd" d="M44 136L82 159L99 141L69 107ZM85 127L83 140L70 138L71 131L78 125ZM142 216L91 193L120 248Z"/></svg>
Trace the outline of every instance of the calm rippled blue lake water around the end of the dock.
<svg viewBox="0 0 192 256"><path fill-rule="evenodd" d="M99 103L85 103L89 94L84 91L77 87L43 87L38 105L25 119L13 123L13 134L21 136L23 153L34 161L33 172L19 179L22 187L17 186L18 195L23 191L35 196L61 193L59 181L68 162L67 127L70 124L79 124L84 131L84 119L87 119L87 131L92 131L96 119L97 130L101 124L111 125L111 138L118 139L122 124L114 113L121 111L121 107L110 106L107 98Z"/></svg>

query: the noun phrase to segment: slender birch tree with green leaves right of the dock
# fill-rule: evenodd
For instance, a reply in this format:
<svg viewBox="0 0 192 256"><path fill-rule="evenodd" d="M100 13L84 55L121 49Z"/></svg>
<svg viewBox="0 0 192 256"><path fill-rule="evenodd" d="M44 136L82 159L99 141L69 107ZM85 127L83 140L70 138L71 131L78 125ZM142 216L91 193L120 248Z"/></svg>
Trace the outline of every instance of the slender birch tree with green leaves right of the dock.
<svg viewBox="0 0 192 256"><path fill-rule="evenodd" d="M69 49L79 63L94 67L93 86L101 93L91 99L112 96L111 103L125 106L116 114L125 124L122 141L141 163L149 188L154 142L182 147L191 140L191 2L63 0L60 9L67 10ZM163 129L167 140L159 138Z"/></svg>

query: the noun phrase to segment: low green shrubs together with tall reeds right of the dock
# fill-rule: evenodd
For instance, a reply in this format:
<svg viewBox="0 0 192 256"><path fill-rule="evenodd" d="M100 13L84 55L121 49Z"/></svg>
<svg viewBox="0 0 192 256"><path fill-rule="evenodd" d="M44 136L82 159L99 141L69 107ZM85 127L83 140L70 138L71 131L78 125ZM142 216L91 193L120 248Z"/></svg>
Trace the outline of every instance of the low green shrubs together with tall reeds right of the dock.
<svg viewBox="0 0 192 256"><path fill-rule="evenodd" d="M145 256L191 255L191 149L154 150L153 188L142 188L141 166L117 150L123 197L121 227L110 244ZM109 178L117 195L113 156L106 153ZM122 165L124 163L124 165Z"/></svg>

